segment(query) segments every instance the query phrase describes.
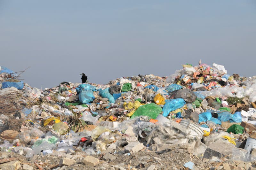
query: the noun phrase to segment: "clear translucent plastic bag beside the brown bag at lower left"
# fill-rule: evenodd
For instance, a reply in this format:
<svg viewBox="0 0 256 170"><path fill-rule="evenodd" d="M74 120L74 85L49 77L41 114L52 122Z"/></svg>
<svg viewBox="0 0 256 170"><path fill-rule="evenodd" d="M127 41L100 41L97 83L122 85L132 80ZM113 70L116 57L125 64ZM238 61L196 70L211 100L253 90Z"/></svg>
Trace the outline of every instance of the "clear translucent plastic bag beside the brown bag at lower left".
<svg viewBox="0 0 256 170"><path fill-rule="evenodd" d="M31 128L24 132L19 133L18 139L20 139L21 142L28 143L31 141L31 139L38 139L43 138L44 132L37 128Z"/></svg>

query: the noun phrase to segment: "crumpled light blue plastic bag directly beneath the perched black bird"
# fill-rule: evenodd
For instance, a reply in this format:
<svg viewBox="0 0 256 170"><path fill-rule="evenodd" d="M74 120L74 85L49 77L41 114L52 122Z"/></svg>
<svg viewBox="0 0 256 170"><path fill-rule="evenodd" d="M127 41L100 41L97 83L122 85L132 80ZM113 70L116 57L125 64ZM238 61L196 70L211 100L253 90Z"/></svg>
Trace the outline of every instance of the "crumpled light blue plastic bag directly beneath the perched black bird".
<svg viewBox="0 0 256 170"><path fill-rule="evenodd" d="M91 103L95 97L93 96L93 91L90 89L90 84L80 84L76 91L78 93L79 101L83 104Z"/></svg>

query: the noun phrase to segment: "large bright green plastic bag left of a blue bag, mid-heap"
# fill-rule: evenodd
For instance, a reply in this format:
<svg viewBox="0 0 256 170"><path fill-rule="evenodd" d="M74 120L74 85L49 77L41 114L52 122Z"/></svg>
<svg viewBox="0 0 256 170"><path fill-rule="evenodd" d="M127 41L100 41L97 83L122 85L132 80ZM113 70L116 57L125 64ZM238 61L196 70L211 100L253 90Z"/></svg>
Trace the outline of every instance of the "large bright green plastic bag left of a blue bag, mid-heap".
<svg viewBox="0 0 256 170"><path fill-rule="evenodd" d="M131 116L131 119L138 117L138 116L148 116L151 119L156 119L156 117L162 112L162 107L155 104L145 104L140 106Z"/></svg>

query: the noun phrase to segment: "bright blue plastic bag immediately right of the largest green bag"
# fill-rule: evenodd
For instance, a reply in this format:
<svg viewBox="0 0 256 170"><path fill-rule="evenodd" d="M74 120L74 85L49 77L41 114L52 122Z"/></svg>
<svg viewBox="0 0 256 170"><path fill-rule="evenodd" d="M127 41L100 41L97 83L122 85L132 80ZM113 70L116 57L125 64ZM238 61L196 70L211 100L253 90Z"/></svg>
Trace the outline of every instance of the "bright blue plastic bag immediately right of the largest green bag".
<svg viewBox="0 0 256 170"><path fill-rule="evenodd" d="M166 117L168 114L176 109L179 109L186 104L185 100L182 98L176 98L171 100L165 100L163 107L163 116Z"/></svg>

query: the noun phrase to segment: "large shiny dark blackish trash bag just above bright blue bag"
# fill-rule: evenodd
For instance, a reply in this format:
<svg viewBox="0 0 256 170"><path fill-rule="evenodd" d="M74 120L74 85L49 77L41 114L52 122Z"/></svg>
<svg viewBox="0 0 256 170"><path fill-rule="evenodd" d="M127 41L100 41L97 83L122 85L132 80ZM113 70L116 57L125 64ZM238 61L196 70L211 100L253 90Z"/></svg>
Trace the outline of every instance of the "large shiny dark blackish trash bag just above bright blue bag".
<svg viewBox="0 0 256 170"><path fill-rule="evenodd" d="M171 98L183 98L186 103L193 103L196 101L196 95L189 89L174 90L170 93Z"/></svg>

